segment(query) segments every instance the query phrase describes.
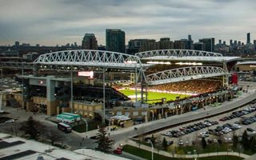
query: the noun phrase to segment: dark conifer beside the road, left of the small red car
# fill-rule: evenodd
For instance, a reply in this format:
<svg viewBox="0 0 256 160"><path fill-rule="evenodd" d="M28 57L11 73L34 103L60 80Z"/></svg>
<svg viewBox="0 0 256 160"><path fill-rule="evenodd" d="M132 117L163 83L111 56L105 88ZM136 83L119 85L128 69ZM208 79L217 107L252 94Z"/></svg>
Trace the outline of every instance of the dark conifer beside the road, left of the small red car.
<svg viewBox="0 0 256 160"><path fill-rule="evenodd" d="M105 130L105 127L98 129L96 143L98 143L97 150L110 153L110 149L114 144L114 140L110 139L110 137L108 136Z"/></svg>

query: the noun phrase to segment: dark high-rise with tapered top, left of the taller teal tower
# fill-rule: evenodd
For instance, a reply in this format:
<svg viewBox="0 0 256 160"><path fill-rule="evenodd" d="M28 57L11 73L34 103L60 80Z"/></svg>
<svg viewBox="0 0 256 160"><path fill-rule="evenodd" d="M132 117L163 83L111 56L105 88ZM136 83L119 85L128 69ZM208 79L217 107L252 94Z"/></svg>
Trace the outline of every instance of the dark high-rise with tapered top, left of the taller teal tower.
<svg viewBox="0 0 256 160"><path fill-rule="evenodd" d="M98 42L94 34L85 34L82 39L82 49L98 50Z"/></svg>

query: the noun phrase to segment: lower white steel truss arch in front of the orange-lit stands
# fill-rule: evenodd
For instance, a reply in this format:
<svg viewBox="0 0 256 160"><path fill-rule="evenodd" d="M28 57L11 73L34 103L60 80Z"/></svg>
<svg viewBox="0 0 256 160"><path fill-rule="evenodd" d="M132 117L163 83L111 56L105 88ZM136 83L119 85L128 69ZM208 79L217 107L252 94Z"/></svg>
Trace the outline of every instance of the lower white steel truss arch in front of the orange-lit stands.
<svg viewBox="0 0 256 160"><path fill-rule="evenodd" d="M217 66L190 66L173 70L164 70L146 76L148 85L160 85L170 82L181 82L200 78L210 78L229 74Z"/></svg>

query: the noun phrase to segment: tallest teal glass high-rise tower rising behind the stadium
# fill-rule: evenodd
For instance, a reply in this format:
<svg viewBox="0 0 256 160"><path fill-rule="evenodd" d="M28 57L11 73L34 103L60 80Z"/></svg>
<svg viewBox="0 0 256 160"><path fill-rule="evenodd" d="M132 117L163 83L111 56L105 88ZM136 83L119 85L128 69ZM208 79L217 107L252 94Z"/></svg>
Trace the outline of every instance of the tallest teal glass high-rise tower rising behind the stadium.
<svg viewBox="0 0 256 160"><path fill-rule="evenodd" d="M125 53L126 34L118 29L106 29L106 50Z"/></svg>

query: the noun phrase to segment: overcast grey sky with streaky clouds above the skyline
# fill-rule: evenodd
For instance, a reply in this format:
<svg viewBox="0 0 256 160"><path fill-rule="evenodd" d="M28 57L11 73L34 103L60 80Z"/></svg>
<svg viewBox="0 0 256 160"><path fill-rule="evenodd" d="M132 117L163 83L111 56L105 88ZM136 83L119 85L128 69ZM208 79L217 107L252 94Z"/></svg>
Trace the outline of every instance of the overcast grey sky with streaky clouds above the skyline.
<svg viewBox="0 0 256 160"><path fill-rule="evenodd" d="M129 39L171 40L214 37L256 39L255 0L0 0L0 45L15 41L55 46L81 45L94 33L105 45L106 28L118 28Z"/></svg>

